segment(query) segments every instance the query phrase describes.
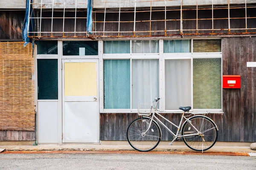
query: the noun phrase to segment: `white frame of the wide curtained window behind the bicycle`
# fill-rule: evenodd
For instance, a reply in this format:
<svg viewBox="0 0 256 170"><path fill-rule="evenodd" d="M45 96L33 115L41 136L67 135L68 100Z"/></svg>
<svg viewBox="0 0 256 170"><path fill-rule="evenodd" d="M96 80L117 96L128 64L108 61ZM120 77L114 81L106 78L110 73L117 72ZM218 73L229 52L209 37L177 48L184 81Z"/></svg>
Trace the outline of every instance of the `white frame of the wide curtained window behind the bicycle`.
<svg viewBox="0 0 256 170"><path fill-rule="evenodd" d="M206 53L193 53L193 40L203 39L219 39L221 40L221 52L206 52ZM124 39L125 40L125 39ZM126 39L127 40L127 39ZM191 111L193 113L223 113L223 94L222 94L222 61L221 61L221 109L194 109L193 108L193 58L221 58L222 59L222 39L221 38L194 38L184 39L177 38L172 40L191 40L191 53L163 53L163 41L170 39L157 39L159 40L159 53L145 53L136 54L132 53L132 41L130 40L130 53L129 54L103 54L103 40L99 40L99 59L100 59L100 112L101 113L137 113L137 109L132 109L132 89L130 89L130 109L104 109L104 59L130 59L130 83L132 83L132 59L159 59L159 109L162 113L181 113L180 110L165 109L165 60L166 59L191 59ZM141 39L140 39L141 40ZM156 40L156 39L145 39ZM105 40L104 40L105 41ZM113 41L113 40L111 40ZM122 41L122 40L118 40ZM131 84L130 84L131 88ZM153 99L152 99L153 100Z"/></svg>

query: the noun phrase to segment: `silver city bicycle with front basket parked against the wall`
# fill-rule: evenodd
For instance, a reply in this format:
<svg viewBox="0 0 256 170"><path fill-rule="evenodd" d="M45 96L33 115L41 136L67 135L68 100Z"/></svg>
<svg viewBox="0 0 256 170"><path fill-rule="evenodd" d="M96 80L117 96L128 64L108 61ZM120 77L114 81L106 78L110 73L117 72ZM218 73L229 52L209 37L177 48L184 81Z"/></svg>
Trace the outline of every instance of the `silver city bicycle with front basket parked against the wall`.
<svg viewBox="0 0 256 170"><path fill-rule="evenodd" d="M183 142L190 149L204 152L215 144L218 138L218 127L212 119L204 115L189 117L192 115L190 114L184 116L186 112L189 112L191 107L180 107L179 109L183 111L183 114L180 124L177 126L161 116L157 111L159 100L160 98L154 99L152 105L145 103L138 104L138 115L141 117L132 121L126 132L126 137L131 147L142 152L147 152L157 147L162 137L162 132L157 122L163 125L174 137L172 142L169 143L170 145L172 145L175 140L183 139ZM172 132L155 114L177 127L177 133ZM183 119L185 119L185 122L181 126Z"/></svg>

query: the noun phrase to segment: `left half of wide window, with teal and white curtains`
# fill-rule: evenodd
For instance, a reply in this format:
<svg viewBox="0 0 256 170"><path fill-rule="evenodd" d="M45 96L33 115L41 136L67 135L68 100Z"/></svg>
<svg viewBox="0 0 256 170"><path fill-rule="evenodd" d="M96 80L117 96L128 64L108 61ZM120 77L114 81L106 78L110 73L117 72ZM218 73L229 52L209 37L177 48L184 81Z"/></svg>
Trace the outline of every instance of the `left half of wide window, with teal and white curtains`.
<svg viewBox="0 0 256 170"><path fill-rule="evenodd" d="M140 54L130 53L130 42L132 53ZM159 40L104 41L104 109L137 109L159 96L159 55L143 54L158 53L158 47Z"/></svg>

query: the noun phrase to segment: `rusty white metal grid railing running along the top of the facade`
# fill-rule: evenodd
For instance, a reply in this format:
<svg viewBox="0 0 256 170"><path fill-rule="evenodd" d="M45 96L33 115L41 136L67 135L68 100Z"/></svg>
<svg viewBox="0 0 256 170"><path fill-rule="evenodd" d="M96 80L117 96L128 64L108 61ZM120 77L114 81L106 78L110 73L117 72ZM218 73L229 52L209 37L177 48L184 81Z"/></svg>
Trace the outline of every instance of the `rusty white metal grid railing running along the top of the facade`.
<svg viewBox="0 0 256 170"><path fill-rule="evenodd" d="M180 0L180 8L172 8L172 7L167 7L166 6L166 2L167 1L171 1L171 0L133 0L133 1L125 1L125 0L116 0L118 2L110 2L110 1L105 1L105 2L99 2L99 3L105 3L105 8L101 11L101 9L96 9L95 11L92 11L94 14L96 13L104 13L104 21L97 21L94 20L93 24L97 24L97 23L104 23L103 26L103 31L92 31L92 35L90 35L90 39L93 39L93 37L157 37L157 36L163 36L163 35L152 35L151 33L154 32L163 32L164 36L171 36L171 35L223 35L223 34L227 34L227 33L217 33L214 31L228 31L228 34L255 34L255 31L252 32L248 32L248 30L256 30L256 28L248 28L248 20L249 19L255 19L256 17L247 17L247 9L249 8L256 8L255 5L253 4L247 4L247 0L245 0L244 4L241 4L239 6L233 6L230 4L230 0L228 0L227 4L224 4L222 6L213 6L213 0L212 0L212 4L210 6L199 6L198 5L198 0L196 0L196 8L195 7L184 7L183 6L183 1ZM164 6L160 6L160 7L156 7L156 6L152 6L152 3L154 2L164 2ZM134 3L134 10L133 8L121 8L121 3ZM139 8L137 7L136 3L145 3L148 2L150 3L150 6L148 6L147 8L143 9L143 8ZM94 3L98 3L98 2L94 2ZM107 8L107 4L108 3L119 3L119 8L115 8L115 9L111 9L111 8ZM41 0L41 3L31 3L31 5L38 5L40 6L40 8L38 8L37 11L40 10L40 17L29 17L29 20L31 19L37 19L38 20L38 28L39 31L37 32L29 32L29 33L37 33L37 35L34 36L30 36L30 37L56 37L53 36L53 34L62 34L62 36L57 36L57 37L87 37L88 34L87 32L78 32L76 31L76 20L77 19L87 19L87 17L76 17L76 13L78 11L77 9L77 5L85 5L87 3L77 3L77 1L75 3L66 3L66 0L64 0L64 3L56 3L54 2L54 0L52 0L52 3L43 3L43 0ZM42 12L43 12L43 8L42 5L46 5L46 4L51 4L52 5L52 17L42 17ZM53 11L54 11L54 5L64 5L63 9L63 17L54 17L53 15ZM66 5L75 5L75 17L65 17L65 11L66 11ZM221 17L221 18L214 18L214 12L217 12L217 10L221 10L221 9L227 9L228 11L228 17ZM230 16L230 9L245 9L245 16L244 17L232 17ZM36 10L36 9L35 9ZM133 11L127 11L127 10L133 10ZM211 10L212 16L210 18L198 18L198 11L199 10ZM46 9L44 9L44 11L47 11ZM49 10L48 10L49 11ZM70 9L69 9L70 11ZM71 9L71 11L73 11ZM153 12L161 12L164 11L164 19L161 20L152 20L152 15ZM167 11L180 11L180 19L167 19L166 18L166 12ZM184 11L196 11L196 18L184 18L183 16L183 12ZM150 13L149 16L149 20L136 20L136 13L142 13L142 12L148 12ZM107 13L119 13L119 17L118 17L118 21L107 21L106 18L106 14ZM121 17L120 15L124 14L124 13L134 13L134 20L133 21L121 21ZM47 31L44 32L41 30L41 21L42 19L51 19L51 31ZM53 31L53 20L54 19L63 19L63 31ZM75 28L74 31L64 31L64 20L65 19L75 19ZM204 21L204 20L212 20L212 29L199 29L200 26L198 25L198 21ZM228 20L228 28L215 28L214 29L214 20ZM245 28L231 28L230 27L230 20L245 20ZM175 30L168 30L167 26L166 26L166 22L167 21L180 21L180 29L175 29ZM195 29L183 29L183 21L196 21L196 28ZM250 22L252 22L253 20L250 20ZM145 22L149 22L149 28L148 31L136 31L136 23L145 23ZM152 30L152 22L164 22L164 30ZM105 23L118 23L118 31L105 31ZM134 23L134 28L133 31L120 31L120 23ZM236 32L232 32L232 30L245 30L245 32L241 31L240 33ZM177 32L179 31L180 34L167 34L167 32ZM184 33L184 31L195 31L195 33ZM210 31L210 33L199 33L200 31ZM86 34L86 36L76 36L76 34ZM116 35L105 35L105 33L114 33L114 34L118 34ZM132 36L130 35L120 35L120 33L133 33ZM148 33L148 35L136 35L136 33ZM50 34L50 36L44 35L42 36L41 34ZM74 34L74 36L67 36L64 34ZM102 35L103 34L103 35Z"/></svg>

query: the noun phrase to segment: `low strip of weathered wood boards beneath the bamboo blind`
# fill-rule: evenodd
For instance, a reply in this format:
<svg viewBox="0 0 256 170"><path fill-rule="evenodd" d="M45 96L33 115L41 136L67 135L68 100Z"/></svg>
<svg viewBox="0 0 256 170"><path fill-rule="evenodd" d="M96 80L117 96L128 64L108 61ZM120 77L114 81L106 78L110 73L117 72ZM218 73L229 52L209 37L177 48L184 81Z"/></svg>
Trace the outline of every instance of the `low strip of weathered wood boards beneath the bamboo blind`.
<svg viewBox="0 0 256 170"><path fill-rule="evenodd" d="M0 141L35 141L35 131L0 130Z"/></svg>

